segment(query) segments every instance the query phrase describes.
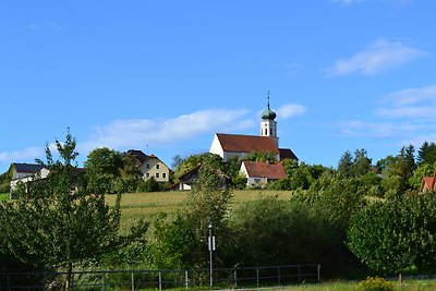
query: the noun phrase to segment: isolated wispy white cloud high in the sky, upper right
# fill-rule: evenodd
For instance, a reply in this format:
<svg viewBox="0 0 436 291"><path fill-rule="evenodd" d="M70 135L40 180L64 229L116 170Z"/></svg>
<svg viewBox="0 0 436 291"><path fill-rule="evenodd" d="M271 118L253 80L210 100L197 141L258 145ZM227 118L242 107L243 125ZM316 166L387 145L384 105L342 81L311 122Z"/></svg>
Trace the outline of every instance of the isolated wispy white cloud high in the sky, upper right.
<svg viewBox="0 0 436 291"><path fill-rule="evenodd" d="M338 76L354 73L373 75L404 64L423 54L423 51L407 47L399 41L379 38L364 51L358 52L349 59L336 61L332 66L326 70L326 75Z"/></svg>

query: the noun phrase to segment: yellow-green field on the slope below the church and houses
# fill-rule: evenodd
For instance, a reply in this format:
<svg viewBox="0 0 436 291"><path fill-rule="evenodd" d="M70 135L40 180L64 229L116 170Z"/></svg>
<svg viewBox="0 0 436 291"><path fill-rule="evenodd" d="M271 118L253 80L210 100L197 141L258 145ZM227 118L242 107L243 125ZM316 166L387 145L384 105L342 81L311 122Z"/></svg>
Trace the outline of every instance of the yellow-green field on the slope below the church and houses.
<svg viewBox="0 0 436 291"><path fill-rule="evenodd" d="M121 195L121 229L129 229L134 221L143 218L153 219L156 214L174 214L183 209L187 191L150 192L150 193L125 193ZM244 190L234 191L231 207L238 207L243 203L255 201L261 196L277 195L281 199L289 199L291 192L288 191L259 191ZM106 195L108 205L114 205L117 195Z"/></svg>

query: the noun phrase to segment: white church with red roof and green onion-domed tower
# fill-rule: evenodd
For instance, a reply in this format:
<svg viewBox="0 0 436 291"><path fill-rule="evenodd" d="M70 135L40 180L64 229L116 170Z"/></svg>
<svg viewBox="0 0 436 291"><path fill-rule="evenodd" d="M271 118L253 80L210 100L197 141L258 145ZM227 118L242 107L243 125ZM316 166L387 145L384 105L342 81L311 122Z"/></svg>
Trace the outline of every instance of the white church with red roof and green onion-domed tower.
<svg viewBox="0 0 436 291"><path fill-rule="evenodd" d="M277 161L287 158L299 160L290 148L279 147L276 117L269 107L268 93L267 108L262 113L261 135L216 133L209 153L219 155L226 161L234 156L242 159L251 153L272 154Z"/></svg>

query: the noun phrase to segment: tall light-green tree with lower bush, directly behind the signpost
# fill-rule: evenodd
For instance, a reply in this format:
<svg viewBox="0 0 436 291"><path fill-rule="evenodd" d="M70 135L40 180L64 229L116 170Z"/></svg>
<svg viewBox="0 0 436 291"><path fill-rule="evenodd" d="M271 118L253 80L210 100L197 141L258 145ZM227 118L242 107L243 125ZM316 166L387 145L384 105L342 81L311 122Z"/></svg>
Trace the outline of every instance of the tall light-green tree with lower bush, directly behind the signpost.
<svg viewBox="0 0 436 291"><path fill-rule="evenodd" d="M203 165L187 194L186 208L175 219L159 216L154 222L153 262L159 268L205 267L211 223L217 240L227 238L227 214L232 193L216 168ZM216 257L219 262L219 258Z"/></svg>

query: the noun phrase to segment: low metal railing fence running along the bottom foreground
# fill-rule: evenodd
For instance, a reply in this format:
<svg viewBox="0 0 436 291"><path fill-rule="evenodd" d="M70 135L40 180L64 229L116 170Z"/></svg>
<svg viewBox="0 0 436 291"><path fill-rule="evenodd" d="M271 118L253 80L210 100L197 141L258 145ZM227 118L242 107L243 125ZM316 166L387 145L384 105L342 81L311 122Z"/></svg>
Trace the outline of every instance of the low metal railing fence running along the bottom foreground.
<svg viewBox="0 0 436 291"><path fill-rule="evenodd" d="M65 272L0 272L0 290L62 290ZM318 282L320 265L216 268L214 289ZM209 269L74 271L72 290L209 289Z"/></svg>

